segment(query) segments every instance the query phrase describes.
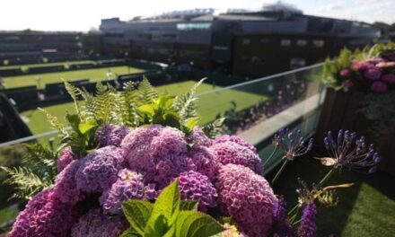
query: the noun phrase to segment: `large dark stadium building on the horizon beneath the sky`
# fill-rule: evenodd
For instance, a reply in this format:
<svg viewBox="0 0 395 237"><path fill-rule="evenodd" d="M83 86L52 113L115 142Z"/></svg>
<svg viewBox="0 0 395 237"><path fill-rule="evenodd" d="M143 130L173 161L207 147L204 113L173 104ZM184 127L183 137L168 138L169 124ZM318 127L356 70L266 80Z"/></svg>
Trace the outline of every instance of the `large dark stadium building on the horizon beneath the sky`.
<svg viewBox="0 0 395 237"><path fill-rule="evenodd" d="M305 15L281 4L256 12L195 9L128 22L104 19L100 31L103 50L114 57L189 63L248 76L309 65L380 36L364 22Z"/></svg>

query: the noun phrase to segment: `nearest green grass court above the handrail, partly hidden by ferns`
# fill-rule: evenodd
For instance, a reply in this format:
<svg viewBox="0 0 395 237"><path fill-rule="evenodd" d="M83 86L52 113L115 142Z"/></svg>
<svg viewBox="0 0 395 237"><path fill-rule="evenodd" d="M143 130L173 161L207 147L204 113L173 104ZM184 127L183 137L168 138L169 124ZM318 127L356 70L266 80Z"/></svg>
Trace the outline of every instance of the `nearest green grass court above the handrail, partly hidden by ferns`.
<svg viewBox="0 0 395 237"><path fill-rule="evenodd" d="M149 78L148 78L149 79ZM188 92L189 88L195 84L195 81L186 81L182 83L171 83L167 85L162 85L156 87L158 92L163 94L168 92L170 94L181 94ZM218 87L216 87L218 88ZM207 92L213 90L213 86L208 83L202 83L198 87L199 92ZM206 96L202 96L198 100L198 112L203 118L201 123L204 124L215 118L218 113L224 113L231 107L231 101L235 101L238 110L242 110L258 101L265 101L268 98L265 96L259 96L257 94L252 94L249 92L240 92L236 90L226 90L224 92L214 93ZM65 121L66 110L74 111L73 103L59 104L55 106L49 106L45 108L54 116L60 119L60 121ZM50 130L48 122L46 122L45 115L40 110L29 110L22 112L22 116L28 118L29 121L27 125L31 128L33 134L40 134L42 132L47 132Z"/></svg>

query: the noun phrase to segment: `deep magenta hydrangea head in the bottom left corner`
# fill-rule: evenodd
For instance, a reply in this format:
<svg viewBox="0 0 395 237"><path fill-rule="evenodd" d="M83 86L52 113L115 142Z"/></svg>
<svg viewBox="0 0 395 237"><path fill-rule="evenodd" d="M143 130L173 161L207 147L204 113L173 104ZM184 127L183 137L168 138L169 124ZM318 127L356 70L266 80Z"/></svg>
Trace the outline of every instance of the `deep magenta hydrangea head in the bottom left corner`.
<svg viewBox="0 0 395 237"><path fill-rule="evenodd" d="M8 236L66 237L73 223L73 207L58 201L52 189L47 189L31 198Z"/></svg>

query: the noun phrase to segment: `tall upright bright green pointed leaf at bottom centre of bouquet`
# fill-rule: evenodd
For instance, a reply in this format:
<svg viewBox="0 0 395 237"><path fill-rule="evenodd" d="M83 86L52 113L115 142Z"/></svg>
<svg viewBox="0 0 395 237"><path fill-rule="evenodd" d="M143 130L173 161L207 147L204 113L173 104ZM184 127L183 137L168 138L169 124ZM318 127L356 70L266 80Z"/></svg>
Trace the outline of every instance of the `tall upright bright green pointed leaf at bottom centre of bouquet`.
<svg viewBox="0 0 395 237"><path fill-rule="evenodd" d="M156 199L154 210L147 225L145 234L162 234L166 233L180 213L180 189L179 180L173 181L169 186L164 188ZM150 235L150 236L151 236Z"/></svg>

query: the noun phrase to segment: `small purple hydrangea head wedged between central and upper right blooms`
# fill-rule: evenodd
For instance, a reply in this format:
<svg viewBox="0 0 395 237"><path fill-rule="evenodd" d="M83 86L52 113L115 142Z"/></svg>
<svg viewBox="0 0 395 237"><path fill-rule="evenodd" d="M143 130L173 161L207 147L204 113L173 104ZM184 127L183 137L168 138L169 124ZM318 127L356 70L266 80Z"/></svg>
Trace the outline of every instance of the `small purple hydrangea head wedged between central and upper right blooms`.
<svg viewBox="0 0 395 237"><path fill-rule="evenodd" d="M189 151L188 156L193 162L191 170L206 175L210 180L215 180L221 163L216 160L215 154L211 149L204 146L196 146Z"/></svg>

